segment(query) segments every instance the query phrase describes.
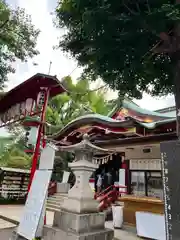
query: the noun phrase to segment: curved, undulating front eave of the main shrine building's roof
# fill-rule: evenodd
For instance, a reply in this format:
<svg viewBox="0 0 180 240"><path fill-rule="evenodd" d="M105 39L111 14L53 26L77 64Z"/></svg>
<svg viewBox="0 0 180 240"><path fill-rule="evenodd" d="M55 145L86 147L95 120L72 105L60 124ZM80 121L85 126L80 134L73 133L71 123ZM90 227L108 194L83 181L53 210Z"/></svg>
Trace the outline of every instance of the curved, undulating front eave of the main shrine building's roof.
<svg viewBox="0 0 180 240"><path fill-rule="evenodd" d="M112 133L117 133L124 135L126 137L129 136L137 136L135 132L132 132L132 129L136 129L137 126L142 128L146 128L149 130L156 129L159 126L166 125L168 123L175 122L175 118L165 119L152 123L143 123L139 122L131 117L126 120L116 120L106 116L102 116L99 114L88 114L85 116L81 116L79 118L74 119L69 124L67 124L64 128L62 128L59 132L49 137L49 139L53 139L54 141L59 141L62 144L68 143L67 140L69 137L75 136L75 133L79 133L79 137L83 135L83 133L88 132L93 129L103 129L104 131L109 131ZM88 130L88 131L87 131ZM123 130L123 131L122 131ZM76 138L76 137L75 137ZM78 139L77 139L78 140Z"/></svg>

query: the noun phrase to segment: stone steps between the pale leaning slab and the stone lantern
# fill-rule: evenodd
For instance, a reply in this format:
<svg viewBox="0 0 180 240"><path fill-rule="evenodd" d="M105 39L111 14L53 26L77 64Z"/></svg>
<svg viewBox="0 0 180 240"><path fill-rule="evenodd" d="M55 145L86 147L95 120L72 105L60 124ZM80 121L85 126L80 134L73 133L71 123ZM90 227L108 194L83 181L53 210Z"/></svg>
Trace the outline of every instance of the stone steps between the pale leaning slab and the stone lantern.
<svg viewBox="0 0 180 240"><path fill-rule="evenodd" d="M53 196L50 196L47 199L46 210L51 212L58 211L67 196L67 193L55 193Z"/></svg>

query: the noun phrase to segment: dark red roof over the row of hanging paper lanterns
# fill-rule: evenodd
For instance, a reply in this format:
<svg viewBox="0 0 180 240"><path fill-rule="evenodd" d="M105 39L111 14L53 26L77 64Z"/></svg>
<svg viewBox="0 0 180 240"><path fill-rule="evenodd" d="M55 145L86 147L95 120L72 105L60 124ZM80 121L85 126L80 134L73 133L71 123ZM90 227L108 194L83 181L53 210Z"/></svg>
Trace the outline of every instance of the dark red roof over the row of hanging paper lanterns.
<svg viewBox="0 0 180 240"><path fill-rule="evenodd" d="M35 99L41 88L49 88L50 97L66 91L55 76L37 73L5 93L0 99L0 113L4 113L12 105L24 102L27 98Z"/></svg>

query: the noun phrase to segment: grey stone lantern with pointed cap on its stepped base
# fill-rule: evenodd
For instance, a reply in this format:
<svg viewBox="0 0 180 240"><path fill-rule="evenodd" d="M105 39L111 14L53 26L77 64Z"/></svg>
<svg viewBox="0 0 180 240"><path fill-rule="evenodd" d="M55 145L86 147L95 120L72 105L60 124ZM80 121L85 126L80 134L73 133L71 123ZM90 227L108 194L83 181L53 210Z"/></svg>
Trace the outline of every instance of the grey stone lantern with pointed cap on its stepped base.
<svg viewBox="0 0 180 240"><path fill-rule="evenodd" d="M94 153L107 152L90 143L88 135L82 142L60 147L60 151L73 152L74 162L69 164L76 176L68 198L54 214L53 226L45 226L44 240L112 240L114 231L105 229L105 214L98 212L98 202L89 185L89 178L97 165L92 163Z"/></svg>

